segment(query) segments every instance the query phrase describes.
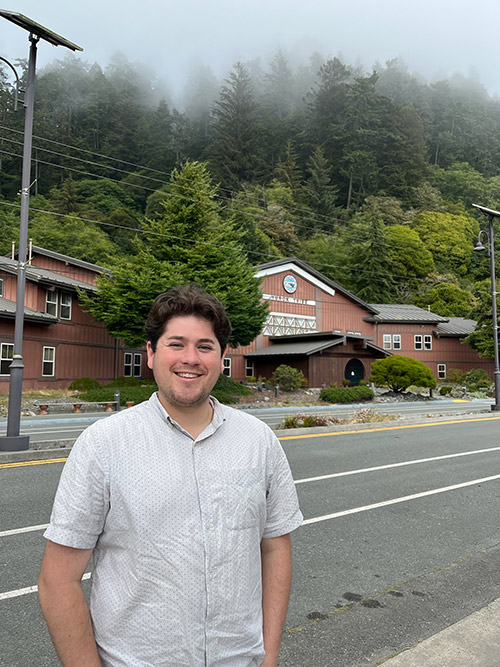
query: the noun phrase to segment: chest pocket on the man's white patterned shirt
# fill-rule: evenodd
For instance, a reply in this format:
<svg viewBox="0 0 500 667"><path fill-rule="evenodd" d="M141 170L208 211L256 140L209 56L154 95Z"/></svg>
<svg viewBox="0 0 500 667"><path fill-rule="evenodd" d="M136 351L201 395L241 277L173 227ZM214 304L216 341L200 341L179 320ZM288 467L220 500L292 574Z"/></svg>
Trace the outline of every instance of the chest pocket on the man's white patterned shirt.
<svg viewBox="0 0 500 667"><path fill-rule="evenodd" d="M251 469L217 471L214 480L214 509L231 530L264 525L266 493L264 480Z"/></svg>

